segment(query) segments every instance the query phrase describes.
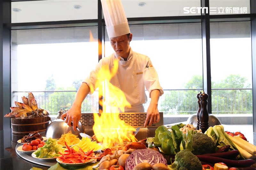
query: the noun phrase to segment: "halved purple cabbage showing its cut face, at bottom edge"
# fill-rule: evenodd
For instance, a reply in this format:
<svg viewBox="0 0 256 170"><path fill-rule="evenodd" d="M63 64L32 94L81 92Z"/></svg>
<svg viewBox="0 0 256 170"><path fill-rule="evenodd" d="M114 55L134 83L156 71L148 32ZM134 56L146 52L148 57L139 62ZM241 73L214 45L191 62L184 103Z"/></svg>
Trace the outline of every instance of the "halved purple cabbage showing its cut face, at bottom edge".
<svg viewBox="0 0 256 170"><path fill-rule="evenodd" d="M164 156L153 149L138 149L132 152L132 154L126 159L125 170L132 170L134 166L147 162L152 166L157 163L163 163L167 166Z"/></svg>

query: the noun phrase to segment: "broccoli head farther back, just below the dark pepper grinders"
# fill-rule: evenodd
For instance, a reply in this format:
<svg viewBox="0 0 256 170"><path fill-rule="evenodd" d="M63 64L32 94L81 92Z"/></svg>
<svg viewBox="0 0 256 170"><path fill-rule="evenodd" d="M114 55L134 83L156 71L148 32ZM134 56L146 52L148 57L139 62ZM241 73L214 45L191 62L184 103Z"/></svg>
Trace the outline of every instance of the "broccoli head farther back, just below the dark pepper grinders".
<svg viewBox="0 0 256 170"><path fill-rule="evenodd" d="M214 153L215 144L210 137L203 133L196 133L192 136L192 151L195 155Z"/></svg>

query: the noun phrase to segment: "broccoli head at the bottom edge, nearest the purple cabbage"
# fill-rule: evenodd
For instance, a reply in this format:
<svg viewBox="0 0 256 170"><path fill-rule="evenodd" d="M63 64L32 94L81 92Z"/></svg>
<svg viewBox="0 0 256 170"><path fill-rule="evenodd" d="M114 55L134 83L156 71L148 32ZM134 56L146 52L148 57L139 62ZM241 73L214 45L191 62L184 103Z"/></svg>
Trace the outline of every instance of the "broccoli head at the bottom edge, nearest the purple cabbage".
<svg viewBox="0 0 256 170"><path fill-rule="evenodd" d="M189 150L185 149L175 155L175 161L171 165L172 170L202 170L200 160Z"/></svg>

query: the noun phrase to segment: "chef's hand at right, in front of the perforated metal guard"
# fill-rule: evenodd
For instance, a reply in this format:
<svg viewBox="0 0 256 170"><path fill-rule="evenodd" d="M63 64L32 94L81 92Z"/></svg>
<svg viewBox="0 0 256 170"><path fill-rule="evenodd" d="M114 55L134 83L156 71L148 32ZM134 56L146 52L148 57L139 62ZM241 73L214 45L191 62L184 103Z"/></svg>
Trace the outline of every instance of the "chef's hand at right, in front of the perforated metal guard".
<svg viewBox="0 0 256 170"><path fill-rule="evenodd" d="M160 121L159 111L157 109L157 104L151 104L147 110L147 118L144 124L144 127L151 126L153 123L157 123Z"/></svg>

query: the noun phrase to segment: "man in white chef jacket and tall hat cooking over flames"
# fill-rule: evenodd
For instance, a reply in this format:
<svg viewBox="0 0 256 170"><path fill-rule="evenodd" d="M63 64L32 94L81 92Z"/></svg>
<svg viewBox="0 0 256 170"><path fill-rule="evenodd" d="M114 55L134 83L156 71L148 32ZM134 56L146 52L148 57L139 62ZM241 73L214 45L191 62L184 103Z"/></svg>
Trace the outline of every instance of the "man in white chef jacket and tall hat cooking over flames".
<svg viewBox="0 0 256 170"><path fill-rule="evenodd" d="M81 105L85 97L97 88L97 71L103 64L108 64L111 69L114 60L118 60L117 74L110 80L110 83L120 88L131 104L131 107L125 107L124 112L144 112L143 104L147 102L145 87L151 98L147 118L144 127L160 121L160 115L157 109L159 96L164 91L159 84L158 75L152 62L146 55L132 51L130 42L132 33L128 25L124 8L120 0L101 0L104 19L108 37L114 53L109 57L102 58L97 64L95 70L92 70L90 76L84 80L77 91L76 99L72 107L61 116L65 122L76 130L78 121L81 118Z"/></svg>

